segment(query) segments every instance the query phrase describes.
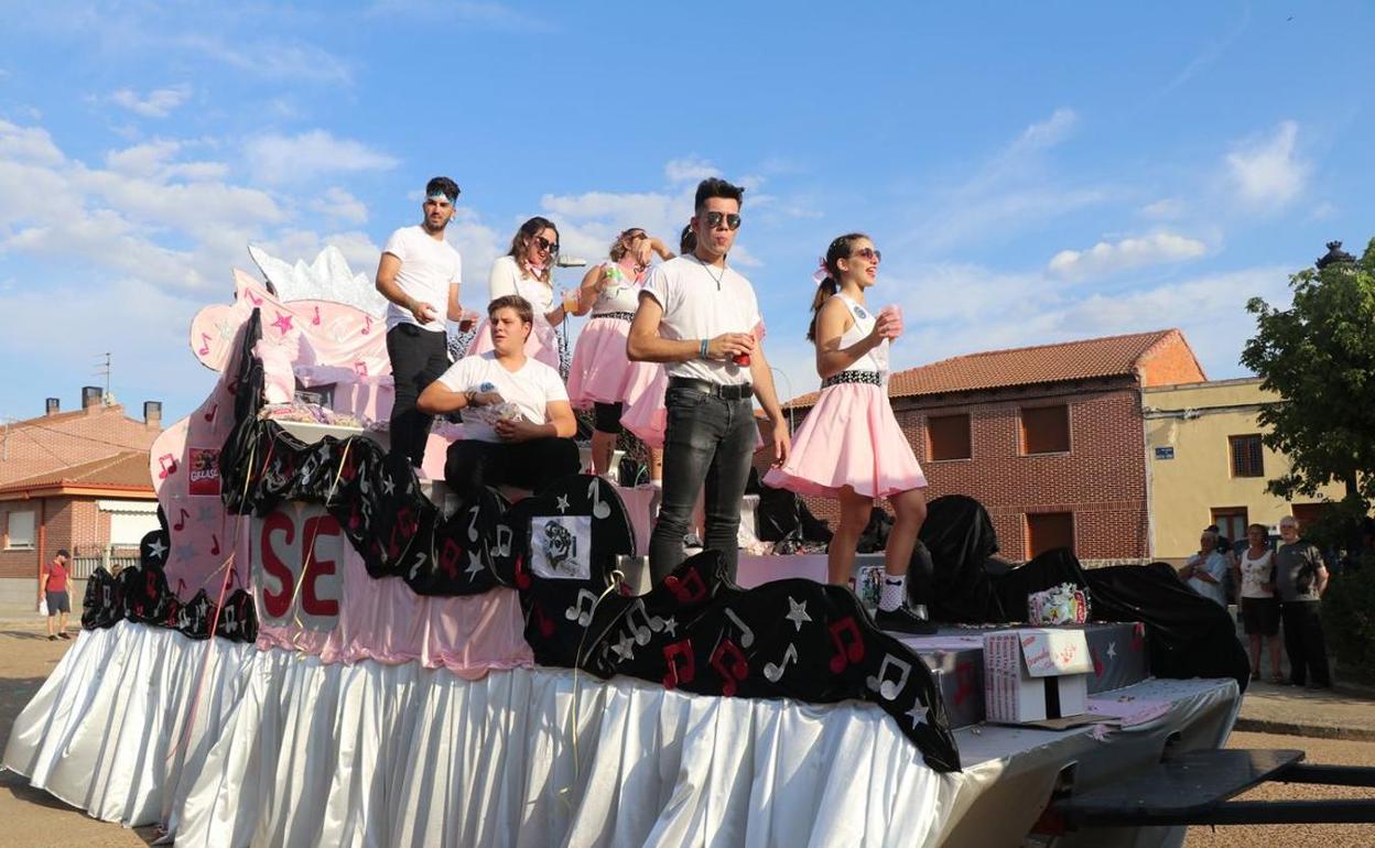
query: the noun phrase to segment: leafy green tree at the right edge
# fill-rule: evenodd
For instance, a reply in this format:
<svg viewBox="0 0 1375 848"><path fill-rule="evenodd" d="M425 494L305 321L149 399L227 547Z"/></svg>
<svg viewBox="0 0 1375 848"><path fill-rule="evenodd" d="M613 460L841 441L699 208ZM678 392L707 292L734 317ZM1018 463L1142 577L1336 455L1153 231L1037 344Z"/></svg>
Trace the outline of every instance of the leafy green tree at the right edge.
<svg viewBox="0 0 1375 848"><path fill-rule="evenodd" d="M1266 488L1292 500L1341 482L1341 511L1364 515L1375 502L1375 239L1358 260L1331 242L1290 289L1288 309L1246 304L1257 333L1242 364L1282 399L1258 415L1270 427L1264 441L1292 463Z"/></svg>

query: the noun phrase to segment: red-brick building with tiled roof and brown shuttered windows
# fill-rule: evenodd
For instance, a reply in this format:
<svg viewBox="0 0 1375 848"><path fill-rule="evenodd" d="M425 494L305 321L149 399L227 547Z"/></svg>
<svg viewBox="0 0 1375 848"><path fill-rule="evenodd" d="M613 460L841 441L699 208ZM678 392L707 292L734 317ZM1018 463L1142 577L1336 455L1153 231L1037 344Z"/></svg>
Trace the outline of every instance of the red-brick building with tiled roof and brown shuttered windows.
<svg viewBox="0 0 1375 848"><path fill-rule="evenodd" d="M888 396L928 498L978 499L1011 559L1070 546L1100 564L1151 557L1143 390L1203 379L1184 335L1160 330L957 356L894 374Z"/></svg>

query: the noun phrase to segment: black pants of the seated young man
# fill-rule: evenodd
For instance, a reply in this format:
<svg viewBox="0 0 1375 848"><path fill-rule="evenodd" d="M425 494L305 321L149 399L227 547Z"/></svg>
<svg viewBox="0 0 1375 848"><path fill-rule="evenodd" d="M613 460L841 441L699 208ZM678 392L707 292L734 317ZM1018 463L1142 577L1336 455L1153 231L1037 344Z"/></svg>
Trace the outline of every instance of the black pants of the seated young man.
<svg viewBox="0 0 1375 848"><path fill-rule="evenodd" d="M539 492L560 477L582 470L572 438L532 438L521 443L461 438L448 445L444 481L461 499L481 487L509 485Z"/></svg>

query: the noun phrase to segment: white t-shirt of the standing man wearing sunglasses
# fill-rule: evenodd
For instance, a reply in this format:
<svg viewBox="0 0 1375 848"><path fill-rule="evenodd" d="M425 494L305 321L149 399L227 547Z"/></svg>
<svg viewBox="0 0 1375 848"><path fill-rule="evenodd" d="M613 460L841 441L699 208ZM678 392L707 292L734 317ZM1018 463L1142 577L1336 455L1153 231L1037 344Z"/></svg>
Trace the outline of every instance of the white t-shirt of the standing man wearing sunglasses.
<svg viewBox="0 0 1375 848"><path fill-rule="evenodd" d="M641 289L664 309L659 334L671 339L715 338L722 333L754 333L760 338L763 319L755 289L733 268L707 265L696 256L679 256L654 265ZM749 368L732 361L690 359L664 366L668 377L689 377L720 385L749 382Z"/></svg>

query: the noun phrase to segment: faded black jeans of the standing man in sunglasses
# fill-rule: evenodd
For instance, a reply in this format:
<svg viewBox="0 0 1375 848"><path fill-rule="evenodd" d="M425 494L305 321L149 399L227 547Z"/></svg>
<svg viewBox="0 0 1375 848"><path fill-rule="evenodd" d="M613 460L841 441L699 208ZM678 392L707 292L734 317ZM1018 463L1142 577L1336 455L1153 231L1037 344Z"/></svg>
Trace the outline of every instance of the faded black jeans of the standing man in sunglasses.
<svg viewBox="0 0 1375 848"><path fill-rule="evenodd" d="M705 487L708 550L726 555L727 574L736 579L740 561L740 499L749 480L755 451L754 403L723 400L692 389L664 393L664 499L649 537L649 572L663 580L683 561L683 536L692 524L698 492Z"/></svg>

